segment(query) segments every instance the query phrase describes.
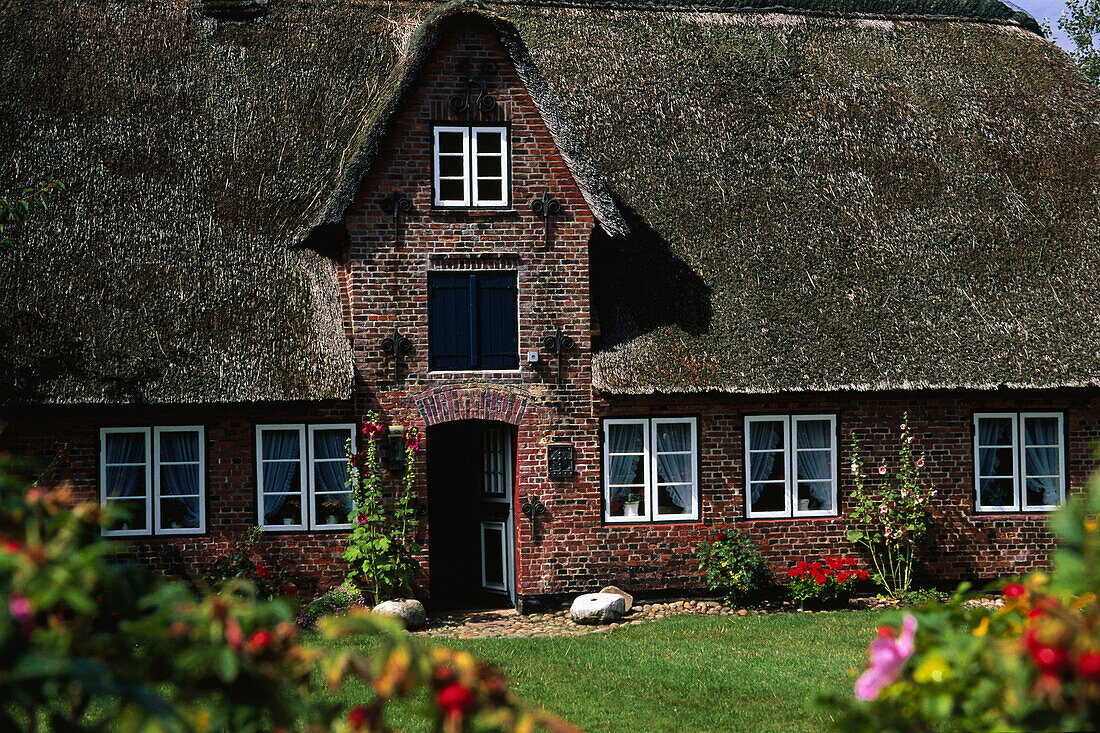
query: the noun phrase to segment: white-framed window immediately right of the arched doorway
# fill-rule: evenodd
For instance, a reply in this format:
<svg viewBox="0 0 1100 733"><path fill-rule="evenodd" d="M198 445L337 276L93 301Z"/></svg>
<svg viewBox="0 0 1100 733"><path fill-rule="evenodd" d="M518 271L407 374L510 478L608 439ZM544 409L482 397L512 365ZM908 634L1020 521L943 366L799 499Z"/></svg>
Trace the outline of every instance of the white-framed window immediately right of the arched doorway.
<svg viewBox="0 0 1100 733"><path fill-rule="evenodd" d="M694 417L604 420L604 518L698 519L698 426Z"/></svg>

